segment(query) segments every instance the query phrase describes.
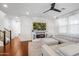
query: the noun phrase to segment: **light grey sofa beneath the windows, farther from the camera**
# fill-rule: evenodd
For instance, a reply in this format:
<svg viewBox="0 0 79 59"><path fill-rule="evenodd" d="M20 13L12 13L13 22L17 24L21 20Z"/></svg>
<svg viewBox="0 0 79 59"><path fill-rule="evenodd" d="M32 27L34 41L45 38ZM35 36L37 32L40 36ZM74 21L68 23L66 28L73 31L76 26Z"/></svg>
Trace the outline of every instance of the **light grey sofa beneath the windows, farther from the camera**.
<svg viewBox="0 0 79 59"><path fill-rule="evenodd" d="M79 43L79 38L78 37L76 38L76 37L68 36L68 35L55 35L53 38L60 41L61 43L66 43L66 42Z"/></svg>

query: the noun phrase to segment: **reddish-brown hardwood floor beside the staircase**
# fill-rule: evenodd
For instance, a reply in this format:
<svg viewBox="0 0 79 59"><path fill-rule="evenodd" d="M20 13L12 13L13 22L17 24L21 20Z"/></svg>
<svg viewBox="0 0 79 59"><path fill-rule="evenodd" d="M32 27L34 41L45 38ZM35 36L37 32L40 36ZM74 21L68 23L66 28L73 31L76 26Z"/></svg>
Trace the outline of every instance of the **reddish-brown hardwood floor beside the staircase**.
<svg viewBox="0 0 79 59"><path fill-rule="evenodd" d="M21 42L20 38L16 37L5 46L5 49L0 48L0 53L0 56L28 56L28 42Z"/></svg>

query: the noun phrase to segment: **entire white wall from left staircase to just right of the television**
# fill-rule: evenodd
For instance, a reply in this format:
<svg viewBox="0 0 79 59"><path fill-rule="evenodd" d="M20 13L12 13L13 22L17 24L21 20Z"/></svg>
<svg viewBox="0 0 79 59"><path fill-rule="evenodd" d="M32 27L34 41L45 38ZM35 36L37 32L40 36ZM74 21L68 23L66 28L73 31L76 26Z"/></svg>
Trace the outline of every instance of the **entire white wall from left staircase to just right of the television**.
<svg viewBox="0 0 79 59"><path fill-rule="evenodd" d="M48 34L55 33L53 19L51 20L51 19L45 19L40 17L25 17L25 16L20 17L19 19L15 17L8 18L5 13L0 12L0 25L2 26L2 28L6 27L7 29L11 29L12 37L20 34L22 41L27 41L32 39L33 22L45 22L47 24L47 33Z"/></svg>

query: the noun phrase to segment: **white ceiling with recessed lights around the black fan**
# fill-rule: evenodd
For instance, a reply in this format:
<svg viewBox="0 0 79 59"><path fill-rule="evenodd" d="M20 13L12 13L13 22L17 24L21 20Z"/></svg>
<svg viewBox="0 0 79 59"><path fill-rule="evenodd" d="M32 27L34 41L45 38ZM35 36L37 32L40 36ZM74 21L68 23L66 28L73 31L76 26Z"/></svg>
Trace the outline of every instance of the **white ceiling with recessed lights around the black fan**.
<svg viewBox="0 0 79 59"><path fill-rule="evenodd" d="M3 4L4 3L0 3L0 10L5 12L7 15L12 16L27 16L26 12L29 12L28 16L57 17L79 9L79 3L56 3L55 8L61 10L62 12L49 11L43 14L44 11L51 7L51 3L6 3L8 8L4 8ZM66 9L62 10L62 8Z"/></svg>

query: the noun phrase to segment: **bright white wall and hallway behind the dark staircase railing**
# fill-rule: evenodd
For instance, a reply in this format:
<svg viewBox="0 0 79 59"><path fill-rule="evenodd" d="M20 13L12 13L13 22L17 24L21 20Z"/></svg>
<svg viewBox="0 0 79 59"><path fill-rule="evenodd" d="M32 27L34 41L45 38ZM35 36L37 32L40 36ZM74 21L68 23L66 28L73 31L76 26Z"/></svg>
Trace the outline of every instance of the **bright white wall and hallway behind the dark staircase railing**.
<svg viewBox="0 0 79 59"><path fill-rule="evenodd" d="M13 17L8 18L4 12L0 11L0 30L4 28L12 31L12 38L20 33L20 19Z"/></svg>

